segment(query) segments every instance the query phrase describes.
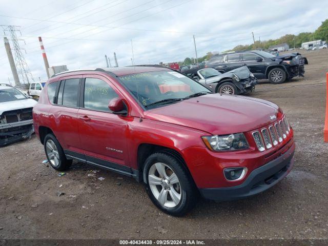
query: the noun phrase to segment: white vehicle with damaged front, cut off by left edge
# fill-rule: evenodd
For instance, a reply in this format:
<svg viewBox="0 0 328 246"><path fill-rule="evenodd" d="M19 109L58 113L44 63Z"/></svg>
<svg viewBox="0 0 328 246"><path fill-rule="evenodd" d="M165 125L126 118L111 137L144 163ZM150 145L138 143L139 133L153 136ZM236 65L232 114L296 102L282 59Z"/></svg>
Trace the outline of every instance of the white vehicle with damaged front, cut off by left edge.
<svg viewBox="0 0 328 246"><path fill-rule="evenodd" d="M16 88L0 84L0 147L31 136L36 104Z"/></svg>

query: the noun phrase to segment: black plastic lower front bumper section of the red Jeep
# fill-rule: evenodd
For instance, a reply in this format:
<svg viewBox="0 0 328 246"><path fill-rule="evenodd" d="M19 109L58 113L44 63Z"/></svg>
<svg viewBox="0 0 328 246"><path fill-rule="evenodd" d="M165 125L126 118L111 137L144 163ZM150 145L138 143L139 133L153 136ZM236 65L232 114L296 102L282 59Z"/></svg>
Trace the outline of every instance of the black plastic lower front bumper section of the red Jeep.
<svg viewBox="0 0 328 246"><path fill-rule="evenodd" d="M241 185L224 188L199 189L200 194L210 200L235 200L261 193L273 187L291 171L294 165L295 144L285 153L265 165L254 169Z"/></svg>

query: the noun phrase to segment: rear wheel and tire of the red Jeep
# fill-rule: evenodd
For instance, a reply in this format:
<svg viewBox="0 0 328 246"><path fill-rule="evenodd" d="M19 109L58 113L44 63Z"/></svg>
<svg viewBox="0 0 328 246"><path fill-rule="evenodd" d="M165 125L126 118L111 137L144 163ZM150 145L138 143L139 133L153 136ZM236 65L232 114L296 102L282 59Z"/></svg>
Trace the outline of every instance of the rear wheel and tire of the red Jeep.
<svg viewBox="0 0 328 246"><path fill-rule="evenodd" d="M73 160L66 158L63 148L61 148L57 138L53 134L49 133L46 135L44 147L47 159L53 169L64 171L72 165Z"/></svg>

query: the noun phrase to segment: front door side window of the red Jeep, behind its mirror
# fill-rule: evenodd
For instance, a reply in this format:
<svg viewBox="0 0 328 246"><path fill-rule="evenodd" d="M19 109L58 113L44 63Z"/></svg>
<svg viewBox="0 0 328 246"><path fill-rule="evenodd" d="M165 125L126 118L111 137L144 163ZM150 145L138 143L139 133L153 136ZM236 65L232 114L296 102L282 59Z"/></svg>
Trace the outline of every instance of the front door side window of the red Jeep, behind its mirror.
<svg viewBox="0 0 328 246"><path fill-rule="evenodd" d="M110 100L115 97L118 97L118 95L104 80L99 78L86 78L84 108L111 112L108 108L108 104Z"/></svg>

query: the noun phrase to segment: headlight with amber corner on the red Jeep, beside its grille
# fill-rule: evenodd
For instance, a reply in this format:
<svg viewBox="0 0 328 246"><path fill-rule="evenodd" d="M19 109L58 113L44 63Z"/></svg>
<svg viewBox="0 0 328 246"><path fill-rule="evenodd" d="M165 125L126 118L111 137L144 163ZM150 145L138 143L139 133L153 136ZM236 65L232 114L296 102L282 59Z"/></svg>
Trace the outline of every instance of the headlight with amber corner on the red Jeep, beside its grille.
<svg viewBox="0 0 328 246"><path fill-rule="evenodd" d="M244 150L250 147L243 133L203 136L201 138L212 151Z"/></svg>

